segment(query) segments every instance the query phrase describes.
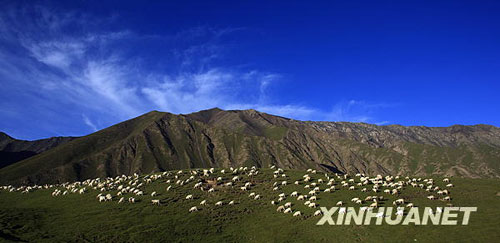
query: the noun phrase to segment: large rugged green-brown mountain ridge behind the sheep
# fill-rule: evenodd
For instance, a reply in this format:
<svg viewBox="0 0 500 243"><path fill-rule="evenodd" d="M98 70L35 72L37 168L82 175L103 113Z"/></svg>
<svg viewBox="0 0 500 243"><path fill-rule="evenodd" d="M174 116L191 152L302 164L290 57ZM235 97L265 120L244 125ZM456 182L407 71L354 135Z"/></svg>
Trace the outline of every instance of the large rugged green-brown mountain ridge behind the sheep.
<svg viewBox="0 0 500 243"><path fill-rule="evenodd" d="M366 174L500 177L500 129L304 122L255 110L150 112L0 169L0 184L277 165Z"/></svg>

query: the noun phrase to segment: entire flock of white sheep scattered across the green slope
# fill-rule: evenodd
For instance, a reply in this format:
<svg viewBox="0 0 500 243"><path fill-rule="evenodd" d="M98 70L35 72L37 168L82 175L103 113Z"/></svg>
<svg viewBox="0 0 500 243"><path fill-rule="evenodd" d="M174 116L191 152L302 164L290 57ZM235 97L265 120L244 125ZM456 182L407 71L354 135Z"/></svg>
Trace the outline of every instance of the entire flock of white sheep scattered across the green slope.
<svg viewBox="0 0 500 243"><path fill-rule="evenodd" d="M276 206L276 211L291 214L297 217L303 216L304 213L299 210L294 210L294 204L303 201L305 206L309 208L317 208L319 207L319 197L335 198L335 192L339 190L359 190L360 193L366 194L362 197L353 197L350 200L350 203L359 205L361 210L371 210L372 208L379 207L381 201L388 201L387 198L380 195L381 193L393 195L393 198L397 198L392 201L392 204L398 207L396 214L403 214L404 207L411 208L416 206L413 202L409 202L403 198L398 198L405 188L413 187L425 190L428 195L427 198L430 200L439 199L443 201L451 201L449 190L453 187L453 184L450 183L450 179L448 178L443 179L443 182L448 184L446 184L444 188L440 188L436 185L433 179L402 176L384 177L381 175L369 177L364 174L355 174L354 176L350 176L348 174L323 174L318 173L313 169L308 169L301 178L291 180L283 169L276 169L275 166L271 166L271 169L273 173L266 174L266 178L269 177L269 179L264 179L260 182L254 179L260 173L260 170L254 166L251 168L239 167L218 170L215 168L190 169L168 171L144 176L140 176L138 174L130 176L121 175L112 178L96 178L88 179L83 182L68 182L43 186L35 185L14 187L8 185L2 186L0 189L8 192L21 193L29 193L34 190L52 190L51 195L53 197L61 197L70 193L85 194L94 190L99 192L96 196L98 202L105 203L116 201L121 204L126 202L136 203L138 201L150 201L152 205L156 206L164 204L164 202L159 198L160 194L179 189L184 189L182 192L200 190L203 191L202 195L205 195L204 193L224 193L227 190L232 190L233 192L239 191L239 201L242 200L241 195L244 195L245 193L248 193L248 198L252 200L262 200L266 197L265 195L269 197L269 194L276 193L277 195L275 197L267 198L270 200L272 205ZM290 182L288 180L290 180ZM164 189L162 189L164 191L152 191L150 193L146 193L146 190L148 190L146 185L155 181L159 181L159 183L163 183L165 185ZM258 186L257 183L262 184L262 186L259 187L261 190L256 189ZM303 188L303 190L295 190L288 193L288 195L284 192L284 189L287 187L293 187L296 189L297 186L299 186L299 188ZM268 192L259 194L258 191L262 192L262 189L264 192L266 190L268 190ZM241 192L244 194L241 194ZM294 199L292 200L292 198ZM193 193L185 195L182 198L183 202L190 205L188 210L190 213L197 212L204 207L207 207L210 204L208 200L208 196L204 198L203 196L195 196ZM234 205L236 202L234 200L229 201L228 199L227 201L217 200L211 203L216 207L222 207L224 205ZM335 203L335 205L343 206L346 203L349 202L339 200ZM331 207L333 205L324 206ZM339 213L345 213L345 208L341 208ZM316 210L312 213L312 216L319 216L321 214L321 210Z"/></svg>

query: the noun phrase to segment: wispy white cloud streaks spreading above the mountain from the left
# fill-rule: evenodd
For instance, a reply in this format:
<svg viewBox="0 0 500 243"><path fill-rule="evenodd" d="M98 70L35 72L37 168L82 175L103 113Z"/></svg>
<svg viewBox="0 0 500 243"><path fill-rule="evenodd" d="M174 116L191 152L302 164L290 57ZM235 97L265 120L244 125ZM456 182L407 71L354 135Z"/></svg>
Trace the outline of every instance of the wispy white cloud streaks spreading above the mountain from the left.
<svg viewBox="0 0 500 243"><path fill-rule="evenodd" d="M16 102L27 101L37 107L37 116L63 120L70 114L91 131L153 109L190 113L212 107L252 108L306 120L377 122L370 116L377 104L342 102L325 112L273 102L267 90L283 75L217 65L224 55L224 36L242 29L202 26L159 36L99 28L114 20L42 6L7 6L0 12L0 85L23 94L0 104L19 107L22 113ZM130 43L137 48L170 43L162 48L170 48L171 55L157 57L159 64L150 67L147 56L122 48ZM47 130L56 125L46 125Z"/></svg>

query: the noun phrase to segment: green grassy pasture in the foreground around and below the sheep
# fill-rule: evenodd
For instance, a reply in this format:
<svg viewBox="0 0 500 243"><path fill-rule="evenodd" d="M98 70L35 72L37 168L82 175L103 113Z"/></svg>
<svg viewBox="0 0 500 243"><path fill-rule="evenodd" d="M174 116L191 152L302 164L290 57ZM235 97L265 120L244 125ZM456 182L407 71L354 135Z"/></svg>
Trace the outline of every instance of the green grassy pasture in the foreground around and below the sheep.
<svg viewBox="0 0 500 243"><path fill-rule="evenodd" d="M301 179L304 171L285 171L291 184ZM311 175L311 174L310 174ZM232 175L217 173L224 181ZM311 175L313 179L323 174ZM189 175L184 175L185 179ZM244 177L231 187L217 186L214 193L193 189L193 184L179 186L172 183L167 191L166 178L142 188L144 196L136 197L135 204L119 204L114 197L111 202L99 203L90 190L85 194L69 193L52 197L54 189L36 190L30 193L0 190L0 241L27 242L498 242L500 239L500 181L496 179L451 178L455 185L451 191L454 206L478 207L469 225L457 226L415 226L415 225L349 225L317 226L320 217L313 217L317 209L307 208L303 201L288 197L294 210L303 213L301 217L276 212L271 200L281 192L292 191L307 194L309 189L301 185L288 185L280 191L272 191L272 184L284 178L273 178L271 170L262 170L252 179ZM444 187L442 178L435 178ZM250 191L239 190L246 181L252 181ZM337 186L340 188L340 186ZM321 184L320 188L326 188ZM64 189L63 189L64 190ZM161 206L151 205L149 194L158 192ZM263 199L253 200L250 192L260 194ZM105 192L116 195L115 192ZM192 194L194 200L185 200ZM399 198L413 202L418 207L445 206L447 202L431 201L425 197L428 192L420 188L405 187ZM332 207L339 200L345 206L355 206L353 197L379 195L386 198L382 206L391 206L396 196L382 192L349 191L346 188L333 193L320 193L317 203ZM130 195L126 195L129 197ZM206 206L199 206L206 199ZM226 205L216 207L222 200ZM230 200L235 205L227 205ZM283 202L283 203L284 203ZM192 206L200 211L189 213Z"/></svg>

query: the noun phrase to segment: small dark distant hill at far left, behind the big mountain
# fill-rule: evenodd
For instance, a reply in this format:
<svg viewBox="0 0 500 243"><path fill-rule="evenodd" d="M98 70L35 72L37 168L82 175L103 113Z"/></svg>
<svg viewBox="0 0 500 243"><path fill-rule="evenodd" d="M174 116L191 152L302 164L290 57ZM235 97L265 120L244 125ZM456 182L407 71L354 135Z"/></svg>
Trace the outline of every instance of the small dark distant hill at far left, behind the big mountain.
<svg viewBox="0 0 500 243"><path fill-rule="evenodd" d="M35 141L18 140L0 132L0 168L69 142L75 137L53 137Z"/></svg>

